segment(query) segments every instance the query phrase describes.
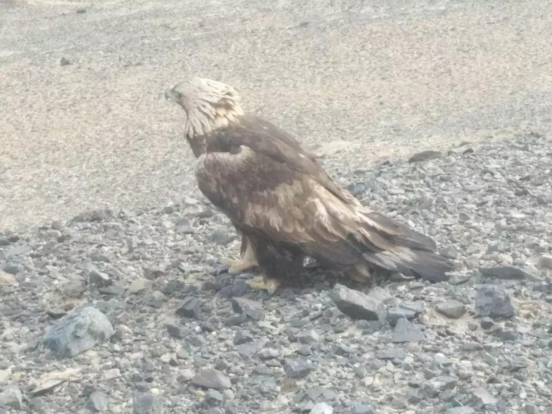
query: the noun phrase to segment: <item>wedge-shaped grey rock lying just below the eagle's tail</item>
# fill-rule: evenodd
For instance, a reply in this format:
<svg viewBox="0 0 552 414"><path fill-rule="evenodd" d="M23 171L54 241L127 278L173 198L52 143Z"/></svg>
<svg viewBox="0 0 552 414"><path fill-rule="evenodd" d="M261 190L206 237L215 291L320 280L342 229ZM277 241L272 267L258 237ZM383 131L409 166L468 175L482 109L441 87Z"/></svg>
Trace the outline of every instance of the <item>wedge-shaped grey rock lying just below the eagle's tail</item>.
<svg viewBox="0 0 552 414"><path fill-rule="evenodd" d="M368 295L336 284L331 292L335 305L345 315L353 319L377 320L383 302L391 297L387 290L376 286Z"/></svg>

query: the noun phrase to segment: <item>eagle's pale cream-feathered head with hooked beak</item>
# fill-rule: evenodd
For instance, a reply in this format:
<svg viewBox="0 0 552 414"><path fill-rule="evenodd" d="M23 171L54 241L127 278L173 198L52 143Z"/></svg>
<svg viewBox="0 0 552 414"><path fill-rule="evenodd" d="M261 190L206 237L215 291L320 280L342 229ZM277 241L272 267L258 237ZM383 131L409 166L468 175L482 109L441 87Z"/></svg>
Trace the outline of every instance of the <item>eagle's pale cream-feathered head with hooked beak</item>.
<svg viewBox="0 0 552 414"><path fill-rule="evenodd" d="M175 101L186 111L185 133L188 140L228 126L244 110L232 86L196 77L166 90L166 99Z"/></svg>

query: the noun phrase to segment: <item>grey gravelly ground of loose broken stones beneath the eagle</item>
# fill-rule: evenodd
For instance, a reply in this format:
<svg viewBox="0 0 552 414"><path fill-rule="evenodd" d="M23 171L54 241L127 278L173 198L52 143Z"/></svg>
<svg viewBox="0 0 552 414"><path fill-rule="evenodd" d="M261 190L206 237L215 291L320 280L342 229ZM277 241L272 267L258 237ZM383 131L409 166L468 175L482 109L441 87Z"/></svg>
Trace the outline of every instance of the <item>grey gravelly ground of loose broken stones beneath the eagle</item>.
<svg viewBox="0 0 552 414"><path fill-rule="evenodd" d="M457 269L273 297L203 199L0 233L0 412L550 413L552 147L326 164Z"/></svg>

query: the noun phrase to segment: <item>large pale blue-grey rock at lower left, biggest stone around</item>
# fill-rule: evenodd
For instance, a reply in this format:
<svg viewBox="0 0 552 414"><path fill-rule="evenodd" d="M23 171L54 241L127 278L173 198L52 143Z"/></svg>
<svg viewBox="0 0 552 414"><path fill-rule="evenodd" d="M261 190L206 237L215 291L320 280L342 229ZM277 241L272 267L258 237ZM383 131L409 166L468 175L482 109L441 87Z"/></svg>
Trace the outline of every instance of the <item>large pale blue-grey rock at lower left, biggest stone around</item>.
<svg viewBox="0 0 552 414"><path fill-rule="evenodd" d="M46 330L43 342L62 357L74 357L106 341L115 331L97 308L79 308Z"/></svg>

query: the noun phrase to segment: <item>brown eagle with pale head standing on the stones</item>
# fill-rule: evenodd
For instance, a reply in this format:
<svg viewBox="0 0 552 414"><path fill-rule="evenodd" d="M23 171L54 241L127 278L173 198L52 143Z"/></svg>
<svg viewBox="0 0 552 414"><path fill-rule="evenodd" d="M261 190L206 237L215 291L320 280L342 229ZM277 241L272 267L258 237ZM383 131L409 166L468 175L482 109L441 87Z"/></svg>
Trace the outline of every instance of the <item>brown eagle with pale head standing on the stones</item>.
<svg viewBox="0 0 552 414"><path fill-rule="evenodd" d="M373 270L446 279L453 264L430 237L361 204L293 135L246 113L235 88L196 77L166 90L186 112L201 193L242 235L230 270L259 267L250 284L274 293L308 260L357 282Z"/></svg>

